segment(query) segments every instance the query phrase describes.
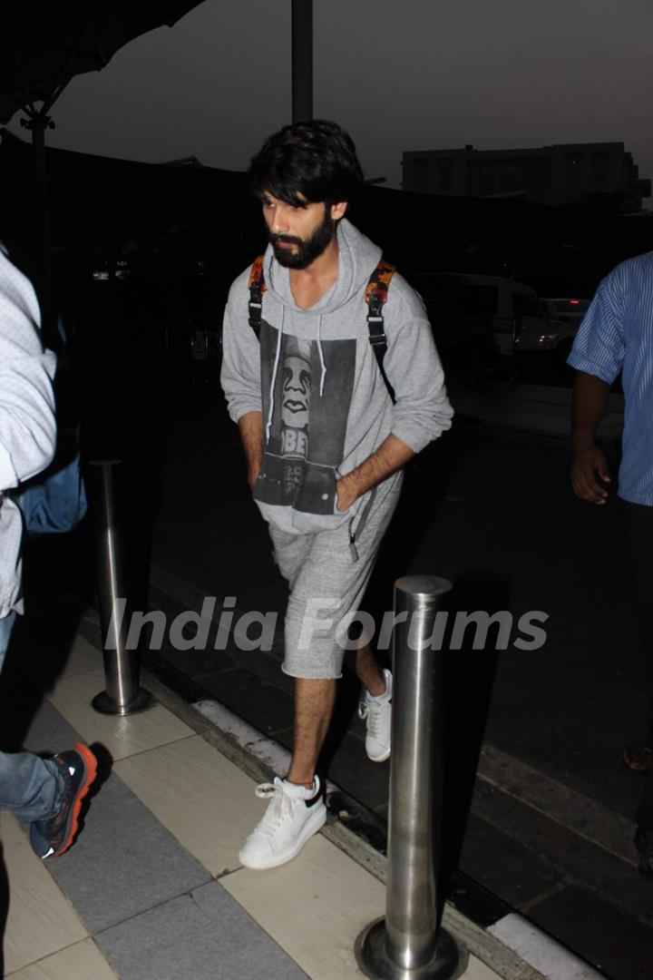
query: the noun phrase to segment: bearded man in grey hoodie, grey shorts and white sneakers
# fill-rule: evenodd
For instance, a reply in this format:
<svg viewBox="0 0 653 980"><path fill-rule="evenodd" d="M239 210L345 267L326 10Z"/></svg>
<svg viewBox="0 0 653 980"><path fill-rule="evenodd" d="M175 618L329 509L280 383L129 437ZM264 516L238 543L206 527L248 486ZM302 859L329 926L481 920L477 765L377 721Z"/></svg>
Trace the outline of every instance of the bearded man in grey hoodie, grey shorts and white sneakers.
<svg viewBox="0 0 653 980"><path fill-rule="evenodd" d="M284 779L258 788L269 804L239 855L267 868L294 858L326 819L315 767L346 649L364 689L367 755L390 756L392 675L373 657L371 637L353 635L352 620L401 469L449 428L452 411L424 306L397 274L384 307L394 398L377 363L366 287L381 250L345 217L362 182L350 136L336 123L285 126L254 158L251 177L269 245L260 304L257 263L231 287L222 385L290 585L283 670L295 678L293 757Z"/></svg>

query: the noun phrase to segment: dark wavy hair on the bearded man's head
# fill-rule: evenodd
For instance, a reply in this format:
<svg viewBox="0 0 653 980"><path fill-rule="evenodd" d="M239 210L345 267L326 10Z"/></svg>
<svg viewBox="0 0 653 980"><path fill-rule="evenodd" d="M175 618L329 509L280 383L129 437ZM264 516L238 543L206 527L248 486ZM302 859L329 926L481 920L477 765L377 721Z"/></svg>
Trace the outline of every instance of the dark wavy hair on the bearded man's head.
<svg viewBox="0 0 653 980"><path fill-rule="evenodd" d="M267 192L294 206L351 201L363 172L350 134L338 123L313 120L286 125L265 140L250 166L257 197Z"/></svg>

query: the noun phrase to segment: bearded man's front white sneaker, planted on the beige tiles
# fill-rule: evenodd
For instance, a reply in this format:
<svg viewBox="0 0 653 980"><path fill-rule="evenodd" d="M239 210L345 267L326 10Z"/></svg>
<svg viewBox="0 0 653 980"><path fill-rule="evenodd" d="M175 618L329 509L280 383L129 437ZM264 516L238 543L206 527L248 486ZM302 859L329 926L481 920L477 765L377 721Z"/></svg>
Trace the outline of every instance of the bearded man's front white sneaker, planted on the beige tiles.
<svg viewBox="0 0 653 980"><path fill-rule="evenodd" d="M239 852L238 859L245 867L262 870L296 858L306 841L326 822L327 810L317 776L312 789L275 776L274 783L257 786L257 797L270 802Z"/></svg>

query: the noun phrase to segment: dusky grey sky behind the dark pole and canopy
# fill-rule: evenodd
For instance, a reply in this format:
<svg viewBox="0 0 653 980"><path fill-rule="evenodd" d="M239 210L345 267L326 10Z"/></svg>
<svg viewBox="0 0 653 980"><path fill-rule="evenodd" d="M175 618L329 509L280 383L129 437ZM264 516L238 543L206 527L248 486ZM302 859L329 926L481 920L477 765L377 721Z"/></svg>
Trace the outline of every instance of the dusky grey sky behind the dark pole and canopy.
<svg viewBox="0 0 653 980"><path fill-rule="evenodd" d="M403 150L621 140L653 177L650 0L315 0L315 116L370 177ZM51 146L244 170L291 116L290 0L206 0L53 110ZM10 128L25 137L15 117ZM645 205L651 206L651 199Z"/></svg>

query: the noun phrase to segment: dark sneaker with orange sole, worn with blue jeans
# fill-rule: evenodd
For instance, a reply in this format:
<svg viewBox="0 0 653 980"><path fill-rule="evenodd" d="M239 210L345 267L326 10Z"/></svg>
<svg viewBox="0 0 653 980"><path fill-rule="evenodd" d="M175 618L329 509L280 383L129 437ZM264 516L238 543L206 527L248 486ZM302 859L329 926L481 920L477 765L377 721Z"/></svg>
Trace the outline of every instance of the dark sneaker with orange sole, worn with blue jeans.
<svg viewBox="0 0 653 980"><path fill-rule="evenodd" d="M98 771L98 763L85 745L77 743L69 752L52 757L64 777L64 799L49 820L29 824L29 842L39 858L59 858L68 851L79 826L79 810Z"/></svg>

